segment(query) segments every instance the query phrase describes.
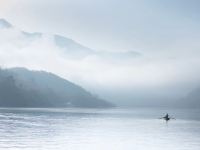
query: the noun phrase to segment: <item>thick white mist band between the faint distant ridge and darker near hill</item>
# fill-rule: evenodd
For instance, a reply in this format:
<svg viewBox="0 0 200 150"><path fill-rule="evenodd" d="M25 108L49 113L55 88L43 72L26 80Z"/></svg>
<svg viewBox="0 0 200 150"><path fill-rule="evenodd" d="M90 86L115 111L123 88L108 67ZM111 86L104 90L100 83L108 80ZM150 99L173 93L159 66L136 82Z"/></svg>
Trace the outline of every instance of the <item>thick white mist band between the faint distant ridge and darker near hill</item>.
<svg viewBox="0 0 200 150"><path fill-rule="evenodd" d="M98 52L76 59L69 56L71 53L63 55L53 35L43 34L32 39L15 28L0 30L0 48L0 63L5 67L46 70L88 87L168 86L175 81L190 81L190 77L196 80L198 76L194 73L200 67L198 56L169 59L156 55L124 55L120 58L123 54Z"/></svg>

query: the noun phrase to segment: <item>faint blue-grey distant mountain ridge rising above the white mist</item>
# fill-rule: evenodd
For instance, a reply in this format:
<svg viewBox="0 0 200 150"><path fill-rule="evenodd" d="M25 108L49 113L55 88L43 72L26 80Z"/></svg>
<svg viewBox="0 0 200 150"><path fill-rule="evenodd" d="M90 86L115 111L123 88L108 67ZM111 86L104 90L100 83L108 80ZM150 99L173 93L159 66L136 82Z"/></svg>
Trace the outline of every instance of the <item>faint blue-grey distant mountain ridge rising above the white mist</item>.
<svg viewBox="0 0 200 150"><path fill-rule="evenodd" d="M104 57L104 58L110 58L112 56L112 58L119 58L119 54L122 56L123 59L130 59L130 58L135 58L140 56L140 53L138 52L134 52L134 51L127 51L127 52L97 52L91 48L88 48L86 46L83 46L81 44L79 44L78 42L67 38L65 36L62 35L58 35L58 34L46 34L46 33L40 33L40 32L26 32L26 31L22 31L19 30L18 28L15 28L15 26L13 26L12 24L10 24L7 20L5 19L0 19L0 31L4 30L4 36L6 35L6 33L8 33L8 37L11 40L8 40L6 42L10 42L9 44L12 44L12 42L14 42L14 45L25 45L25 47L29 47L31 46L31 43L39 40L39 39L44 39L45 38L50 38L51 42L49 44L55 45L55 47L59 48L61 50L61 52L63 54L65 54L66 58L67 57L72 57L72 58L85 58L87 56L90 55L95 55L95 56L99 56L99 57ZM8 31L6 31L6 30ZM13 35L12 35L13 34ZM18 40L18 38L21 37L19 43L20 44L16 44L15 41L13 41L13 39ZM0 38L1 38L1 34L0 34ZM1 45L0 45L1 46ZM1 47L0 47L1 48Z"/></svg>

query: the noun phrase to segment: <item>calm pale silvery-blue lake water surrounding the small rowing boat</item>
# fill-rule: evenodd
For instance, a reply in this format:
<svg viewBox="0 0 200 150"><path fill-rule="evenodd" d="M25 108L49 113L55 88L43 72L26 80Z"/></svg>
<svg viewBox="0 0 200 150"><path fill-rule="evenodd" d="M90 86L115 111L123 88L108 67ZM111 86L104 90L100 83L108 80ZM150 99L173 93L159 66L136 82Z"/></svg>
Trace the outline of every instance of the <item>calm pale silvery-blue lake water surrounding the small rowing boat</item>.
<svg viewBox="0 0 200 150"><path fill-rule="evenodd" d="M176 120L158 119L170 113ZM199 150L200 111L0 109L0 149Z"/></svg>

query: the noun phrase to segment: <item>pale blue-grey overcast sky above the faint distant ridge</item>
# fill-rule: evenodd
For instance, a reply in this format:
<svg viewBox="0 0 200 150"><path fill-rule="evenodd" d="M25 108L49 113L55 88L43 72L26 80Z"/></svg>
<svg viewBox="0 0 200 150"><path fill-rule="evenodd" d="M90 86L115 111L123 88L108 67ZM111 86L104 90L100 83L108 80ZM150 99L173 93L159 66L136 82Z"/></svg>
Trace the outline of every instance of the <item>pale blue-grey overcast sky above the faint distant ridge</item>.
<svg viewBox="0 0 200 150"><path fill-rule="evenodd" d="M180 51L200 35L198 0L0 0L0 4L0 16L24 30L59 33L97 50Z"/></svg>

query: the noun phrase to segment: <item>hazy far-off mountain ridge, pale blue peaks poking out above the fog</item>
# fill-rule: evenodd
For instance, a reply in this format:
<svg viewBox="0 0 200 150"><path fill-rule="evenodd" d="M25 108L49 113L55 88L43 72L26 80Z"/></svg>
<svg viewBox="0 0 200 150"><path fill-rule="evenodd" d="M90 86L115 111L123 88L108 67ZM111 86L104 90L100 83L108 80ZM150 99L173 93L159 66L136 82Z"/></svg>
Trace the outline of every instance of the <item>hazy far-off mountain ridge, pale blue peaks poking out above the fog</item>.
<svg viewBox="0 0 200 150"><path fill-rule="evenodd" d="M2 33L1 33L2 32ZM26 32L15 28L5 19L0 19L0 48L3 50L5 44L12 48L24 48L28 50L34 49L34 43L45 45L48 48L53 48L59 53L62 53L65 58L80 59L88 56L101 58L116 58L126 59L135 58L140 54L134 51L127 52L97 52L91 48L83 46L78 42L58 34L46 34L40 32ZM43 48L41 48L43 50ZM111 57L112 56L112 57Z"/></svg>

